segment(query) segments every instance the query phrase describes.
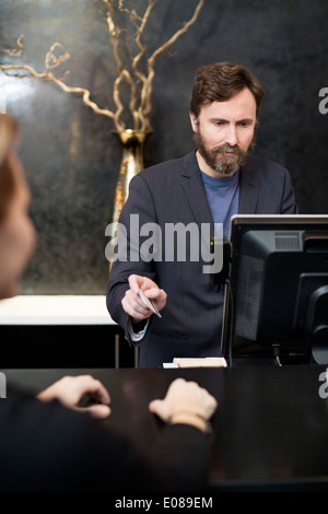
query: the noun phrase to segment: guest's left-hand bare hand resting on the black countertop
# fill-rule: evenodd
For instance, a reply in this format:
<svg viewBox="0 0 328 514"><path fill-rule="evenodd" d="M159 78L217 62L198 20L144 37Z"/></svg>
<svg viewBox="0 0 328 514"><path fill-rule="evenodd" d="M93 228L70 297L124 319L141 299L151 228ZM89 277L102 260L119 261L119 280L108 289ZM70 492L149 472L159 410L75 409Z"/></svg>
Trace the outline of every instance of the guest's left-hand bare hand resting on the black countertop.
<svg viewBox="0 0 328 514"><path fill-rule="evenodd" d="M84 395L98 404L78 407ZM37 395L42 401L58 399L65 407L78 411L87 411L94 418L104 419L110 414L110 397L103 384L90 375L65 376Z"/></svg>

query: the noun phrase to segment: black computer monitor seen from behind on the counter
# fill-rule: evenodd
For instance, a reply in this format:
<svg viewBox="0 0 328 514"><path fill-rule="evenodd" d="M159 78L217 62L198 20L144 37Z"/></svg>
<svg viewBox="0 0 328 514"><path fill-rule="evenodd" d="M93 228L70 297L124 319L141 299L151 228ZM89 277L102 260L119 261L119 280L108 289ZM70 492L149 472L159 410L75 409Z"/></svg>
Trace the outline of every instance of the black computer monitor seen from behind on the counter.
<svg viewBox="0 0 328 514"><path fill-rule="evenodd" d="M222 353L328 364L328 215L234 215Z"/></svg>

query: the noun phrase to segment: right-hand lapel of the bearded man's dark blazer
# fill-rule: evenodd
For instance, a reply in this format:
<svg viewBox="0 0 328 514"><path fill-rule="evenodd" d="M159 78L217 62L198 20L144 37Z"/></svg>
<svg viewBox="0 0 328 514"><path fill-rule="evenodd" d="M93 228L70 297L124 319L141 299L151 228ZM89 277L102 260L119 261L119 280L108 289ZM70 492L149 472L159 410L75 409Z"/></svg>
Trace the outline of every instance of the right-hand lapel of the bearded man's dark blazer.
<svg viewBox="0 0 328 514"><path fill-rule="evenodd" d="M258 174L253 159L241 170L239 214L254 214L258 198Z"/></svg>

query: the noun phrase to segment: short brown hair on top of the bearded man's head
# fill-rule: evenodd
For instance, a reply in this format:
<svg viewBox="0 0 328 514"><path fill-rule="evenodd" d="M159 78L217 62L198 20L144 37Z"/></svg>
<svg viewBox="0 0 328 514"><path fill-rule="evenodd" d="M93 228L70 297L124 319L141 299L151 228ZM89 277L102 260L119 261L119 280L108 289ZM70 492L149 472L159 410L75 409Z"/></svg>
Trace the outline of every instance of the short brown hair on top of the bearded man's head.
<svg viewBox="0 0 328 514"><path fill-rule="evenodd" d="M258 117L265 90L248 68L234 62L203 66L195 74L190 112L198 117L202 105L225 102L244 87L248 87L255 96Z"/></svg>

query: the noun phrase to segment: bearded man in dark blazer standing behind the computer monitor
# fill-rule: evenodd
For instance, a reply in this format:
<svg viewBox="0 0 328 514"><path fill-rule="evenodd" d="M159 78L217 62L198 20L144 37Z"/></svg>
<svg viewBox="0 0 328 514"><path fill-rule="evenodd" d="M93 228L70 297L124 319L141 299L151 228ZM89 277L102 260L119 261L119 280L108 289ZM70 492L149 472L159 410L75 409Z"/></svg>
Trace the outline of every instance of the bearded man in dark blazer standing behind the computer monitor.
<svg viewBox="0 0 328 514"><path fill-rule="evenodd" d="M107 308L130 344L140 347L141 367L159 367L174 358L221 357L224 293L204 272L208 260L200 248L195 257L191 227L209 226L204 233L210 244L218 226L229 237L234 214L297 213L289 172L250 156L262 98L261 83L246 67L201 67L190 102L195 151L144 170L130 182L119 225L126 236L122 246L133 246L133 252L120 258L118 243ZM139 234L131 230L136 214ZM150 226L157 227L157 243L145 253ZM180 252L181 242L177 250L167 248L172 226L179 229L177 237L184 236L186 252ZM203 238L200 230L200 247Z"/></svg>

